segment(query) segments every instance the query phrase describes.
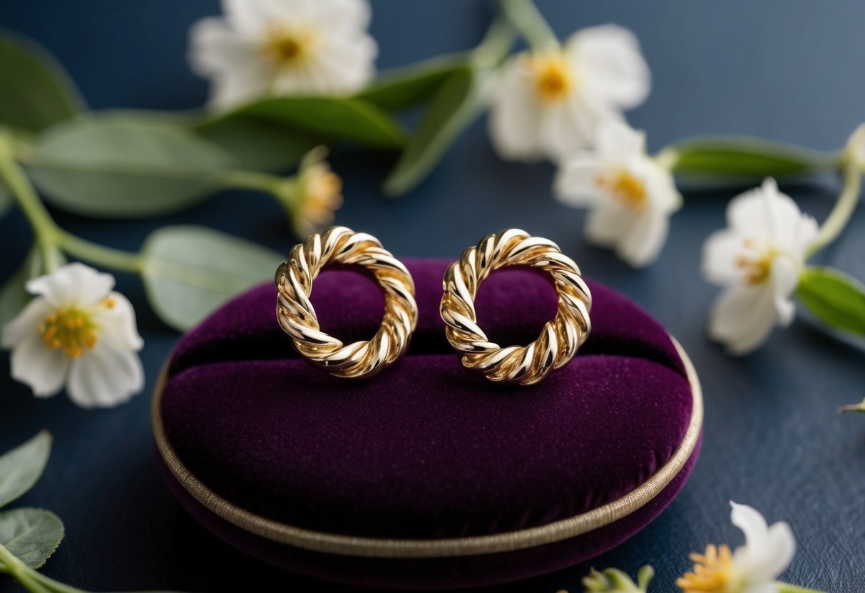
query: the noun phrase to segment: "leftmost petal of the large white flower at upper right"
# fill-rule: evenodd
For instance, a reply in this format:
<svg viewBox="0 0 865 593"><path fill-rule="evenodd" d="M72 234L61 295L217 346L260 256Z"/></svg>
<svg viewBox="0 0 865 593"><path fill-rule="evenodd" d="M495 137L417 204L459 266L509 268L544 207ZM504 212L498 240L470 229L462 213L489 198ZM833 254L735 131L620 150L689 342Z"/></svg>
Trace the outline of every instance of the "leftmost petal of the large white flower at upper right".
<svg viewBox="0 0 865 593"><path fill-rule="evenodd" d="M498 156L530 163L543 154L539 142L541 105L524 65L526 59L526 54L519 54L504 67L488 122Z"/></svg>

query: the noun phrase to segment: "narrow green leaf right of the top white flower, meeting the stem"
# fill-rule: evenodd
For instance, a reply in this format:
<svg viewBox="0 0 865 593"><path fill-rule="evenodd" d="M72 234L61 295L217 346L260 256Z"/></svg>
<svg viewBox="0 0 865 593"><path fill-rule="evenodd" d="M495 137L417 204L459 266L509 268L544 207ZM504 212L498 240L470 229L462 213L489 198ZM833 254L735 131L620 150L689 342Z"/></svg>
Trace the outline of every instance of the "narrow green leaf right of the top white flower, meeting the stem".
<svg viewBox="0 0 865 593"><path fill-rule="evenodd" d="M450 75L465 67L464 56L440 56L381 76L362 92L364 99L387 112L399 112L432 99Z"/></svg>

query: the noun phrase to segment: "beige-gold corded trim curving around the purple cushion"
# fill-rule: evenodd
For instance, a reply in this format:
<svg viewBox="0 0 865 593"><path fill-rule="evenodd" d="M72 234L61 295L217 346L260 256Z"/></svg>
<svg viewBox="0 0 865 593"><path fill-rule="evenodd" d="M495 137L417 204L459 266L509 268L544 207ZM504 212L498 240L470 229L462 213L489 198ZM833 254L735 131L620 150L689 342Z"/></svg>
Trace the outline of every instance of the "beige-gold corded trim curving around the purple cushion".
<svg viewBox="0 0 865 593"><path fill-rule="evenodd" d="M688 462L700 438L702 428L702 388L688 354L685 353L679 342L672 337L671 339L682 357L682 362L688 373L694 403L691 408L691 420L688 429L685 431L682 443L670 457L670 460L648 480L614 501L567 519L513 532L446 539L366 538L317 532L285 525L285 523L250 513L225 500L219 494L215 494L202 481L199 481L183 465L183 462L171 448L165 437L162 418L159 413L159 404L167 377L167 365L160 374L153 392L151 405L153 437L156 439L157 449L163 456L171 474L195 498L195 501L234 526L279 544L293 545L313 552L366 558L447 558L514 552L573 538L626 517L655 498Z"/></svg>

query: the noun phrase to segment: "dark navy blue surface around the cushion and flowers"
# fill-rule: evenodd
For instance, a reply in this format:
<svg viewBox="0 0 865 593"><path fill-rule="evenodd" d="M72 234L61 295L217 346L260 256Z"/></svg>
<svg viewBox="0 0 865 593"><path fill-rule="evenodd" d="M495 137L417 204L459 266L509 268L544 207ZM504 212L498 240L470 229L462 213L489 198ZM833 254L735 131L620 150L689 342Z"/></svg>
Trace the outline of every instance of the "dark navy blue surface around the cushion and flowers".
<svg viewBox="0 0 865 593"><path fill-rule="evenodd" d="M560 35L603 22L637 33L654 88L631 123L648 131L652 149L705 133L835 149L865 121L865 10L858 0L549 0L540 6ZM94 108L188 108L206 99L207 86L184 60L187 29L218 11L215 0L29 0L0 5L0 25L45 44ZM479 1L374 2L378 65L469 48L490 14L490 4ZM386 201L376 189L387 157L343 153L333 163L345 180L346 205L337 220L374 233L396 255L456 258L485 233L520 226L557 241L588 275L643 305L689 351L707 406L701 460L660 518L591 564L631 573L653 564L652 590L676 590L673 581L688 568L689 552L709 542L740 543L728 520L733 499L770 521L791 523L799 546L785 580L840 593L865 590L865 417L836 413L838 405L862 398L862 351L802 318L742 360L706 340L716 290L700 277L700 245L724 225L731 192L686 194L662 258L649 270L631 271L583 242L583 214L550 196L552 167L499 161L484 122L401 201ZM836 195L832 180L785 189L818 220ZM89 239L132 250L152 228L178 222L214 226L283 252L295 242L279 207L254 194L221 194L160 220L57 218ZM820 258L865 277L863 228L860 209ZM0 221L0 277L28 245L20 214ZM138 279L120 276L119 289L138 311L149 390L177 335L148 309ZM43 569L49 576L87 590L347 590L274 571L190 520L157 474L147 393L114 410L82 411L63 396L34 399L9 379L5 356L0 378L0 450L42 428L55 437L48 471L20 501L52 509L66 523L67 537ZM588 569L583 564L503 590L578 591ZM0 590L18 589L0 580Z"/></svg>

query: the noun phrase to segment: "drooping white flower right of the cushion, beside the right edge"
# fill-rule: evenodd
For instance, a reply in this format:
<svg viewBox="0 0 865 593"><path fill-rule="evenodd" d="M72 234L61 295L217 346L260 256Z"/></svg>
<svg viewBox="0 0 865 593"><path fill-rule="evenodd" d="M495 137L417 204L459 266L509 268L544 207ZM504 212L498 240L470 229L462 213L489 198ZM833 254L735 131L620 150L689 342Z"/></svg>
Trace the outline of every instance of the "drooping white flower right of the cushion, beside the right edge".
<svg viewBox="0 0 865 593"><path fill-rule="evenodd" d="M817 222L769 178L730 201L727 225L703 245L703 275L726 287L712 310L708 333L731 354L746 354L776 323L788 325L796 315L791 295L817 236Z"/></svg>

